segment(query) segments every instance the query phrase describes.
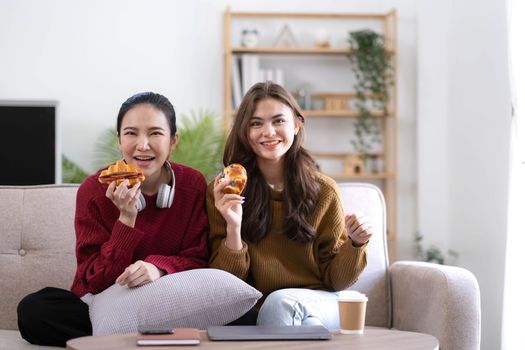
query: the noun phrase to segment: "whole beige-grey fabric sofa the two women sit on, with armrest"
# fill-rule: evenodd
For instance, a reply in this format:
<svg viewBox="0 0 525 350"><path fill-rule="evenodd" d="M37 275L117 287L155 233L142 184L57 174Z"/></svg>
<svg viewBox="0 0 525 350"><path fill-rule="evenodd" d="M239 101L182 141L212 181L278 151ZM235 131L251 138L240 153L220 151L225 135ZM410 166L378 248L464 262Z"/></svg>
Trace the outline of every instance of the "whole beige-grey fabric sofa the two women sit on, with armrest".
<svg viewBox="0 0 525 350"><path fill-rule="evenodd" d="M77 188L0 186L0 349L51 349L20 338L16 306L42 287L70 287ZM381 192L357 183L341 184L340 189L346 211L366 213L376 228L368 266L352 287L369 298L367 325L432 334L444 350L479 349L476 278L458 267L409 261L389 265Z"/></svg>

